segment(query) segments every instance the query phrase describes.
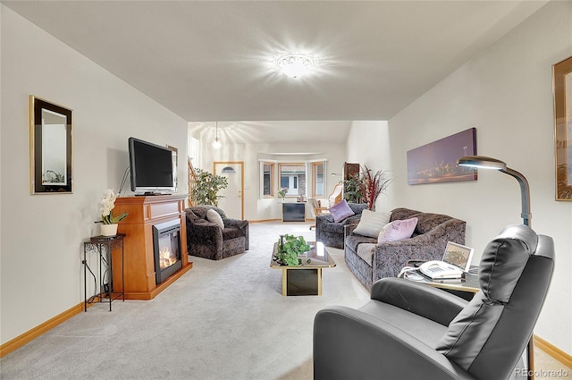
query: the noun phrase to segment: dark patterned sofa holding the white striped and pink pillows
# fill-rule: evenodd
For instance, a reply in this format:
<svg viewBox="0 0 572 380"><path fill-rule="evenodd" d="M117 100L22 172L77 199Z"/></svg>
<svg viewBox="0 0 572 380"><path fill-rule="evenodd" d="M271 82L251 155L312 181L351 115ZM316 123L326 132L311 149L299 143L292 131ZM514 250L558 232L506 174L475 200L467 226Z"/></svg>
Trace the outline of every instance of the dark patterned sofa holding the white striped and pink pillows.
<svg viewBox="0 0 572 380"><path fill-rule="evenodd" d="M448 241L465 244L467 223L449 215L422 213L408 208L391 211L390 221L418 218L409 239L384 241L353 233L346 228L344 258L349 270L368 290L382 277L396 277L409 259L441 260Z"/></svg>

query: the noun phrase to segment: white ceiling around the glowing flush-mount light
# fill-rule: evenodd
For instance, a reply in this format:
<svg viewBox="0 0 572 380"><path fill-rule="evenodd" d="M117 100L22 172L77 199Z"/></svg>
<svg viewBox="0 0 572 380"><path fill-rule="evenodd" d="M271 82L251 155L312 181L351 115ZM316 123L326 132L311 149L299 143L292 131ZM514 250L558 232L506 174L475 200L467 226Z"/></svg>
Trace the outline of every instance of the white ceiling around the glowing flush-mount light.
<svg viewBox="0 0 572 380"><path fill-rule="evenodd" d="M388 120L546 1L2 3L185 120L270 138L259 121ZM312 75L275 72L292 52Z"/></svg>

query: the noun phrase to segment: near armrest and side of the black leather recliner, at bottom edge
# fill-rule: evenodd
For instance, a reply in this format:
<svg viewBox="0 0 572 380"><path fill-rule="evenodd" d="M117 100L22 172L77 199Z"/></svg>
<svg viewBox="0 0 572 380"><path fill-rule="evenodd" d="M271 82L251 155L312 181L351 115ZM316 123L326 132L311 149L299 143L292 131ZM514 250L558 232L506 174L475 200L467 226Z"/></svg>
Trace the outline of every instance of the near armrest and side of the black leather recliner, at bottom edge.
<svg viewBox="0 0 572 380"><path fill-rule="evenodd" d="M474 380L433 347L353 308L320 310L314 319L314 379Z"/></svg>

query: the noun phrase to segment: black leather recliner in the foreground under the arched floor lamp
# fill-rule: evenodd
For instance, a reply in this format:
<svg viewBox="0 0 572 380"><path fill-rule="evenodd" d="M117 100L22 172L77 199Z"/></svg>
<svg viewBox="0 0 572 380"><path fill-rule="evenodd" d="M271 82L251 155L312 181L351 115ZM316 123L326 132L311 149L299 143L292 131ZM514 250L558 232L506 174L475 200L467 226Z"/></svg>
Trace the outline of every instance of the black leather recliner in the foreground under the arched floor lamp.
<svg viewBox="0 0 572 380"><path fill-rule="evenodd" d="M314 321L314 378L507 379L530 340L554 266L550 237L512 225L484 249L473 300L383 278L359 309ZM518 375L518 374L516 374Z"/></svg>

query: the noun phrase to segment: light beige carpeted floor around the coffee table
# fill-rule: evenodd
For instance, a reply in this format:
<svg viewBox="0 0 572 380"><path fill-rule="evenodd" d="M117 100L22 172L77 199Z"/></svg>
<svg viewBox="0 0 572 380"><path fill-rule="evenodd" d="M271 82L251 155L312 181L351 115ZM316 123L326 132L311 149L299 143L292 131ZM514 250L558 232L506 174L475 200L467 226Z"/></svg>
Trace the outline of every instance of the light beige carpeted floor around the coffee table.
<svg viewBox="0 0 572 380"><path fill-rule="evenodd" d="M315 313L359 307L368 292L343 261L324 269L324 295L283 297L270 268L281 233L302 223L250 224L250 250L194 267L150 301L94 305L0 360L2 379L311 379Z"/></svg>

